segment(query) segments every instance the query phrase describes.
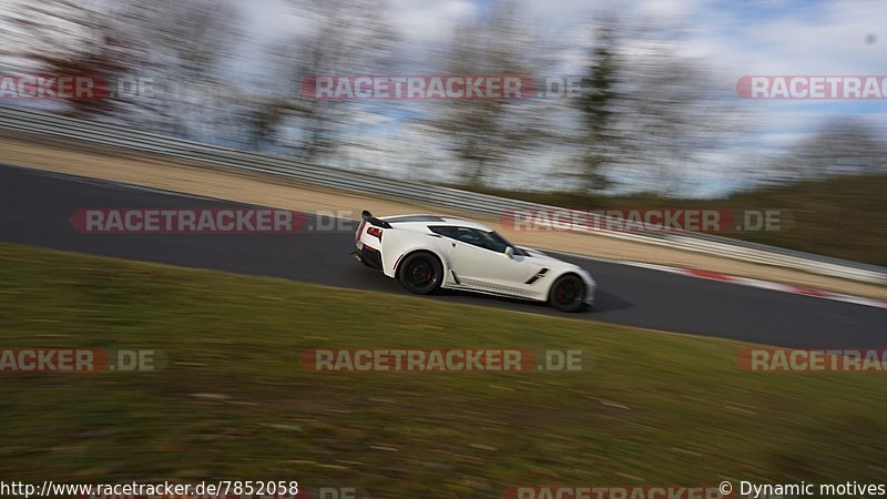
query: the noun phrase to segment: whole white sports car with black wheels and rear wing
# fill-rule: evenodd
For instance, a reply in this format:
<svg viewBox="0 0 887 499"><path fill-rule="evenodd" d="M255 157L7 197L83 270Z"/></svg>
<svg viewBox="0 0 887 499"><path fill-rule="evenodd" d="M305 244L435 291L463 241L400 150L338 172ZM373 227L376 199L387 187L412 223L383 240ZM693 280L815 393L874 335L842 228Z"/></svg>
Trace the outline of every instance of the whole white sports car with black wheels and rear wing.
<svg viewBox="0 0 887 499"><path fill-rule="evenodd" d="M595 284L582 267L518 247L490 227L463 218L367 211L355 237L355 257L408 291L438 288L549 302L573 312L594 303Z"/></svg>

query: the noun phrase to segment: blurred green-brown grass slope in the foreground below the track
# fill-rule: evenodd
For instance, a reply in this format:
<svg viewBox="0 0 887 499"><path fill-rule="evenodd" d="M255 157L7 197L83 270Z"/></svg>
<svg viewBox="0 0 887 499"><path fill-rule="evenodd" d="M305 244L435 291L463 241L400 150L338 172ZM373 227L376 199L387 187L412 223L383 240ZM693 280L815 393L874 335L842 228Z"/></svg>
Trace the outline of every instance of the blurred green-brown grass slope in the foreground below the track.
<svg viewBox="0 0 887 499"><path fill-rule="evenodd" d="M724 318L728 320L728 317ZM512 485L878 481L879 374L751 374L747 345L0 245L0 348L150 348L159 373L0 373L0 479ZM579 373L306 371L313 348L580 349Z"/></svg>

